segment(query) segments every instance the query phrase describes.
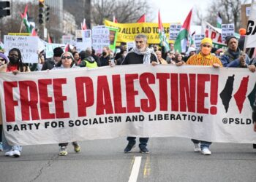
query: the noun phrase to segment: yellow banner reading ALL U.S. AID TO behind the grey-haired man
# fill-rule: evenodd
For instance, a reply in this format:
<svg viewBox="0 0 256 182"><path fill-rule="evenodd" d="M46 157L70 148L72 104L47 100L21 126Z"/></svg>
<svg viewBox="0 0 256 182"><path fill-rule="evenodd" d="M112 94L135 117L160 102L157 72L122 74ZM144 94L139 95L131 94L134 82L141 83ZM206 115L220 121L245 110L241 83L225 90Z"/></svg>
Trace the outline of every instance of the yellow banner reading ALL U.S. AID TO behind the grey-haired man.
<svg viewBox="0 0 256 182"><path fill-rule="evenodd" d="M117 41L129 42L134 41L138 33L148 36L148 44L159 44L158 23L113 23L105 20L106 26L118 28ZM167 39L169 38L170 23L162 24L165 29ZM173 42L173 41L169 41Z"/></svg>

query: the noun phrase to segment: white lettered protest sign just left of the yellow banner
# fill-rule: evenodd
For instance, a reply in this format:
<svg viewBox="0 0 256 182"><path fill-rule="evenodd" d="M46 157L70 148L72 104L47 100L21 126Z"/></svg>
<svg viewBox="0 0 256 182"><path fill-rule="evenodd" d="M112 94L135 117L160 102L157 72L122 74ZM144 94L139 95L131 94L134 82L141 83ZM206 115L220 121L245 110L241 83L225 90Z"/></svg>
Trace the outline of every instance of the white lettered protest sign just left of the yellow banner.
<svg viewBox="0 0 256 182"><path fill-rule="evenodd" d="M110 46L109 28L105 26L95 26L92 28L92 47L95 52L102 53L103 47Z"/></svg>

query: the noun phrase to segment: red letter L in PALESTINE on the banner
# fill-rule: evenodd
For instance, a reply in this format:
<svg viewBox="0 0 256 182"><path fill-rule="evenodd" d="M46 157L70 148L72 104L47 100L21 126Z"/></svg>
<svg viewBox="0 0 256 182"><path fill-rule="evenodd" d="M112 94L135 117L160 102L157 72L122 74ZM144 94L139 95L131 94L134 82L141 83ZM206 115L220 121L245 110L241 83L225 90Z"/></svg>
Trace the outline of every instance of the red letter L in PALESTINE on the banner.
<svg viewBox="0 0 256 182"><path fill-rule="evenodd" d="M127 109L122 106L122 99L121 99L121 79L120 75L113 75L113 99L114 99L114 108L115 113L125 113Z"/></svg>

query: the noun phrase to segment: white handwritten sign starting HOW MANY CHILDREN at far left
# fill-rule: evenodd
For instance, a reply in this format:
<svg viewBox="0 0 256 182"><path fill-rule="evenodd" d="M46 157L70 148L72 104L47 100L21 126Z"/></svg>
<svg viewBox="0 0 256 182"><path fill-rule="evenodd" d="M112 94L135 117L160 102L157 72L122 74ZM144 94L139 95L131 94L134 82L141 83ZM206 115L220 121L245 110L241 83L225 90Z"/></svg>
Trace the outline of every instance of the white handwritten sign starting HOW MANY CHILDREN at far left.
<svg viewBox="0 0 256 182"><path fill-rule="evenodd" d="M12 48L18 48L21 52L23 63L38 63L37 51L39 38L37 36L4 36L4 48L6 53Z"/></svg>

